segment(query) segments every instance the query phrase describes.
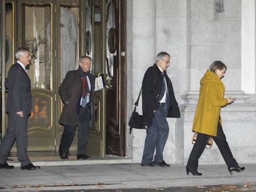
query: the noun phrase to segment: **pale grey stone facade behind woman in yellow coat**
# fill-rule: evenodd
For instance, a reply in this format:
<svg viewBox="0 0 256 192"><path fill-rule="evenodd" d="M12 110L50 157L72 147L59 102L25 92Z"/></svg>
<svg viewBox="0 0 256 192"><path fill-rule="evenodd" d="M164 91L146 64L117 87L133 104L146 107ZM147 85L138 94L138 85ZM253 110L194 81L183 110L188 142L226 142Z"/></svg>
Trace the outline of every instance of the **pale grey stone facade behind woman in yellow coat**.
<svg viewBox="0 0 256 192"><path fill-rule="evenodd" d="M217 11L215 2L223 2L224 9ZM245 18L249 18L249 23L255 23L255 17L251 17L254 14L253 0L127 2L127 78L131 83L127 87L130 93L127 95L127 119L139 94L145 70L153 65L158 52L171 54L167 72L182 117L168 119L166 162L187 163L192 149L191 130L199 81L215 60L223 61L228 67L223 78L226 96L237 98L221 110L223 130L231 151L241 164L256 162L255 24L244 23ZM248 40L248 35L252 39ZM145 135L144 130L133 130L131 135L127 133L128 157L134 162L141 161ZM200 164L220 163L224 161L214 143L213 148L203 152Z"/></svg>

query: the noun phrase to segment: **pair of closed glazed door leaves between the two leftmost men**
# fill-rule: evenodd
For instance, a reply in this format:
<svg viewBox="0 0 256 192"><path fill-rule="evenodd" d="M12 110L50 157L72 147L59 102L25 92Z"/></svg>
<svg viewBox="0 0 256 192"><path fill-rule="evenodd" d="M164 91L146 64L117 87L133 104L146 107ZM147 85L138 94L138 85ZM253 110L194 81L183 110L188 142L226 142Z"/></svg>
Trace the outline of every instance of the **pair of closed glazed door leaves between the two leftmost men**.
<svg viewBox="0 0 256 192"><path fill-rule="evenodd" d="M18 1L18 44L32 54L29 151L58 151L63 130L58 88L66 73L78 67L79 10L79 0ZM76 148L77 135L70 151Z"/></svg>

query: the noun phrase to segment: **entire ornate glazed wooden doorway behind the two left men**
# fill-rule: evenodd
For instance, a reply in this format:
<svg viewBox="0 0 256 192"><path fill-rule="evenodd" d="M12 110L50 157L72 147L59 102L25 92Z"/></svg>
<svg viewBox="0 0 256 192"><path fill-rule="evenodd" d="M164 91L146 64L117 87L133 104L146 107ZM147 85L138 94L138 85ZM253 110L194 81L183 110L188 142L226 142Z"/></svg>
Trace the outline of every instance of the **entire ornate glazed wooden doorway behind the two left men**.
<svg viewBox="0 0 256 192"><path fill-rule="evenodd" d="M79 57L87 55L92 57L93 75L103 73L106 79L106 88L95 94L95 127L90 130L88 154L126 156L126 1L5 0L2 3L5 13L1 19L6 23L2 34L6 37L2 41L6 43L2 50L2 56L6 57L2 62L2 80L15 62L14 52L19 46L30 49L32 56L28 70L33 96L28 151L58 155L63 129L59 124L62 102L58 88L67 70L77 69ZM67 20L62 19L64 11L75 18L75 33L70 38L74 52L63 49L67 40L62 38ZM64 67L67 54L72 63L68 69ZM6 98L7 94L2 96ZM5 109L2 106L2 111ZM7 115L2 114L2 119L4 134ZM76 148L77 135L70 151L75 152Z"/></svg>

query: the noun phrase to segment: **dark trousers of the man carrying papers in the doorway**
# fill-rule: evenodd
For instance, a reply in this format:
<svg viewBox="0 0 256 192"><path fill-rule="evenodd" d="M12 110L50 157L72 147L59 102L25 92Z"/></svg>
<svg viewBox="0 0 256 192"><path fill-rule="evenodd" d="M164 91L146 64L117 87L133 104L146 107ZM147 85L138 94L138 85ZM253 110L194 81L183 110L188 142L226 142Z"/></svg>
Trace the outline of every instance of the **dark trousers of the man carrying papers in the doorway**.
<svg viewBox="0 0 256 192"><path fill-rule="evenodd" d="M87 143L89 138L89 122L91 118L91 109L87 105L84 108L79 106L77 111L79 117L79 125L64 125L62 133L61 144L59 150L68 154L69 148L75 136L75 130L78 127L77 138L77 154L87 154Z"/></svg>

